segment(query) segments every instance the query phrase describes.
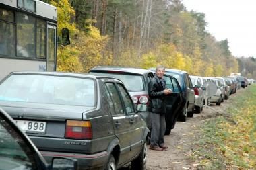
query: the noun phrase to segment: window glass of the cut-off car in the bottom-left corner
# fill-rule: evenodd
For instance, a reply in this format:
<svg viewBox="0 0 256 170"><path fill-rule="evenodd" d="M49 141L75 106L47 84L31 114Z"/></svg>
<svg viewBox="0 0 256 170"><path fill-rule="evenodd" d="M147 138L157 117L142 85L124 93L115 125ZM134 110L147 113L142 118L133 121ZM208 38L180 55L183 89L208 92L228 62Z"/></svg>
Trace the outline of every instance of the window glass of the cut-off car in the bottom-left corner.
<svg viewBox="0 0 256 170"><path fill-rule="evenodd" d="M37 169L32 155L24 140L0 115L0 169Z"/></svg>

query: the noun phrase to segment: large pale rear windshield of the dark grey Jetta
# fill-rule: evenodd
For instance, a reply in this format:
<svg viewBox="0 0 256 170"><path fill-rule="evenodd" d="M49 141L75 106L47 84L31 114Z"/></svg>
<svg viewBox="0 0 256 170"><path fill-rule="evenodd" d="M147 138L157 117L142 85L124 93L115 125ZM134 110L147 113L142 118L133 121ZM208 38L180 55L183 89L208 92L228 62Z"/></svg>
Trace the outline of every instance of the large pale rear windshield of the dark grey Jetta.
<svg viewBox="0 0 256 170"><path fill-rule="evenodd" d="M11 75L0 85L0 101L95 105L92 79L53 75Z"/></svg>

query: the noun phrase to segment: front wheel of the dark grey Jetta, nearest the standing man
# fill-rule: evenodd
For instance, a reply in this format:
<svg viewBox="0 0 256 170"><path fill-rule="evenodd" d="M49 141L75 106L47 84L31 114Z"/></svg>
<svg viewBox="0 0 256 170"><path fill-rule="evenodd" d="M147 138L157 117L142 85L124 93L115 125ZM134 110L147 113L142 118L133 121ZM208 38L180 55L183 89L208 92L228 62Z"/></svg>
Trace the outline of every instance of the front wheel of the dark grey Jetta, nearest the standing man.
<svg viewBox="0 0 256 170"><path fill-rule="evenodd" d="M131 169L146 170L147 153L147 146L146 143L144 143L139 156L131 161Z"/></svg>

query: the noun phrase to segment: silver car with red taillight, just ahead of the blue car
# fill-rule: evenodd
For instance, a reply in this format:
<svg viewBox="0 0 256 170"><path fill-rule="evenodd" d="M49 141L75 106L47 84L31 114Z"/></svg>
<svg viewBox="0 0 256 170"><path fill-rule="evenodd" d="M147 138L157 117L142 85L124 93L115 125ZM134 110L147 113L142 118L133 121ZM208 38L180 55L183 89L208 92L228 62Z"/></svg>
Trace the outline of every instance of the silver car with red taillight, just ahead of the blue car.
<svg viewBox="0 0 256 170"><path fill-rule="evenodd" d="M203 89L205 88L202 87L200 77L191 75L190 79L195 92L195 112L200 113L203 110Z"/></svg>

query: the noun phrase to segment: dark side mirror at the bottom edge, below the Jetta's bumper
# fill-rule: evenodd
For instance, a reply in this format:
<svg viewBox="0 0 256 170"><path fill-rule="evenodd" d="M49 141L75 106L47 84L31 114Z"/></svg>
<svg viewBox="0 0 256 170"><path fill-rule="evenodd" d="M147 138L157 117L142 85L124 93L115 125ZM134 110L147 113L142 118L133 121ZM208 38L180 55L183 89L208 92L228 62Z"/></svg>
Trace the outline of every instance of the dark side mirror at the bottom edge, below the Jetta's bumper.
<svg viewBox="0 0 256 170"><path fill-rule="evenodd" d="M52 159L52 170L69 169L77 170L77 160L64 157L53 157Z"/></svg>

